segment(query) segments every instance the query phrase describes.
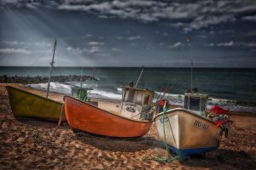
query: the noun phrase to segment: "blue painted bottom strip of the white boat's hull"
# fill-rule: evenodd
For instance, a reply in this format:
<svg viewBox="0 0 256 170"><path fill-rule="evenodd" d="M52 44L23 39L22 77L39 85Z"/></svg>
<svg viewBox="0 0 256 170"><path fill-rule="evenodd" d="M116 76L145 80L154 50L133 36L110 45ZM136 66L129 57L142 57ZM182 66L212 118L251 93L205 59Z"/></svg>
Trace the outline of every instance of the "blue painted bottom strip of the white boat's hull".
<svg viewBox="0 0 256 170"><path fill-rule="evenodd" d="M214 147L207 147L207 148L192 148L192 149L177 150L176 147L173 147L169 144L168 144L168 147L179 156L180 160L183 160L186 157L191 156L193 154L199 154L199 153L204 153L207 151L218 149L218 146L214 146Z"/></svg>

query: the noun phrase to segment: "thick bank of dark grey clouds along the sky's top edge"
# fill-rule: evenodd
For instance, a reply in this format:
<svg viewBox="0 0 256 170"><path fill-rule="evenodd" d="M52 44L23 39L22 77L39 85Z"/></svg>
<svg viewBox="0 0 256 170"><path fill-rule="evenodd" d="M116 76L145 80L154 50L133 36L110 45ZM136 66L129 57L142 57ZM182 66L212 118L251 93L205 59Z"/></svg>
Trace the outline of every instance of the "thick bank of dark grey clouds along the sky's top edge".
<svg viewBox="0 0 256 170"><path fill-rule="evenodd" d="M98 14L99 17L140 20L154 22L159 20L174 21L172 26L182 27L184 31L201 29L220 23L239 20L244 12L255 12L254 0L207 0L207 1L2 1L2 5L26 6L36 8L39 5L49 6L62 10L84 11ZM255 20L255 15L247 15L242 20Z"/></svg>

